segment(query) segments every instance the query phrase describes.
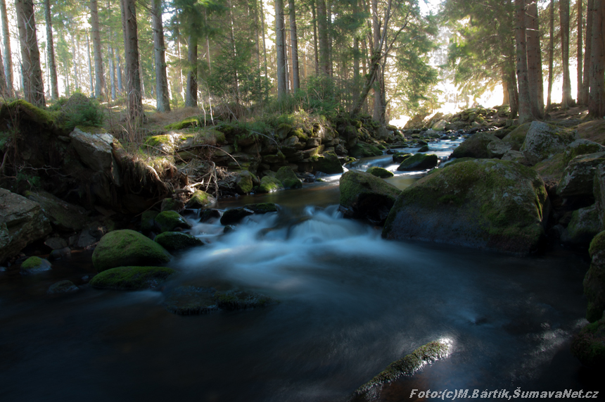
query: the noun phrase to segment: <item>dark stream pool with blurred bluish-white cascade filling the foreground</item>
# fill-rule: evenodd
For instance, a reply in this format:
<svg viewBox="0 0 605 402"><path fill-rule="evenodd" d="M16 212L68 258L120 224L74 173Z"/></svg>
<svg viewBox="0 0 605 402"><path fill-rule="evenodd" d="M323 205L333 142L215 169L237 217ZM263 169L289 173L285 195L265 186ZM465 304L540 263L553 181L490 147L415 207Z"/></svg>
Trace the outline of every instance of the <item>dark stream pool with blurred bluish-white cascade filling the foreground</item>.
<svg viewBox="0 0 605 402"><path fill-rule="evenodd" d="M395 170L390 156L362 165ZM392 161L392 160L391 160ZM405 187L418 175L389 180ZM90 253L52 272L0 273L0 401L345 401L386 366L428 341L453 353L400 379L411 389L597 391L599 377L569 349L585 321L587 257L569 251L518 258L381 239L338 212L338 177L263 196L279 203L177 256L163 291L46 296L49 284L93 275ZM181 285L238 287L280 303L180 316L163 306Z"/></svg>

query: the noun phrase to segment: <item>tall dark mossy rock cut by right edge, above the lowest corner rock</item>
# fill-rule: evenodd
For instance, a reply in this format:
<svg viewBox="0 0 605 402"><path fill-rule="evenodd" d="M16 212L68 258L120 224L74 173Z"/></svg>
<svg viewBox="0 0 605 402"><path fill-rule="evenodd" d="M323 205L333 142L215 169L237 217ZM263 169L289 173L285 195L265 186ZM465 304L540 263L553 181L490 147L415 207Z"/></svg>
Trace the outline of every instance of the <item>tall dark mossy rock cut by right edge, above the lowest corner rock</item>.
<svg viewBox="0 0 605 402"><path fill-rule="evenodd" d="M605 232L600 232L590 242L590 268L584 277L584 294L588 299L586 319L595 322L605 310Z"/></svg>

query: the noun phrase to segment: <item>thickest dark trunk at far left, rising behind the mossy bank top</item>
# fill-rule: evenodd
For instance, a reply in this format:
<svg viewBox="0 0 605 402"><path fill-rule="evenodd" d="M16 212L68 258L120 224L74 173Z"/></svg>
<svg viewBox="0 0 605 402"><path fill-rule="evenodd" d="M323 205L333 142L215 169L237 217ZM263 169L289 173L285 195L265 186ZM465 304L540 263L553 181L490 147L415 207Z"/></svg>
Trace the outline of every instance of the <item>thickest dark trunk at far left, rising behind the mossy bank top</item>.
<svg viewBox="0 0 605 402"><path fill-rule="evenodd" d="M21 74L23 75L25 100L39 108L44 108L46 99L44 99L44 82L42 81L42 68L40 68L34 2L32 0L15 0L15 11L21 45Z"/></svg>

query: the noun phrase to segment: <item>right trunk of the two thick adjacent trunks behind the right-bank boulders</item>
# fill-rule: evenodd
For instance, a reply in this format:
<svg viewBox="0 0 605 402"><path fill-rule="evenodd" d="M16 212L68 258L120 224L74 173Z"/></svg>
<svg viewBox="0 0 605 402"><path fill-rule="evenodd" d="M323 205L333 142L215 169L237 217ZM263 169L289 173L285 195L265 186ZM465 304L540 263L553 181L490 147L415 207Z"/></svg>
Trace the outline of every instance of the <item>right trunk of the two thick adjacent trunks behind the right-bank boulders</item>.
<svg viewBox="0 0 605 402"><path fill-rule="evenodd" d="M540 52L540 27L537 20L537 0L531 0L526 12L526 38L528 58L528 82L532 114L544 118L544 84L542 82L542 56Z"/></svg>

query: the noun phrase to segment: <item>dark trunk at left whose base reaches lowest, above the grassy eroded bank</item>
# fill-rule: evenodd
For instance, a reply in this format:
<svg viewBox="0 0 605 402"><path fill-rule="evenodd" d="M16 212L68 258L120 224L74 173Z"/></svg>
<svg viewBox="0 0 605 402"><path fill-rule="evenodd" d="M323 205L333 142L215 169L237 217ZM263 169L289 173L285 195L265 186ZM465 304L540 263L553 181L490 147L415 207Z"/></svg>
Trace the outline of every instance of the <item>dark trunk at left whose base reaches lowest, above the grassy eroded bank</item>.
<svg viewBox="0 0 605 402"><path fill-rule="evenodd" d="M121 0L122 29L126 63L126 86L128 93L128 117L132 124L143 119L141 99L141 76L139 75L139 38L136 32L136 6L134 0ZM96 54L95 54L96 56Z"/></svg>

